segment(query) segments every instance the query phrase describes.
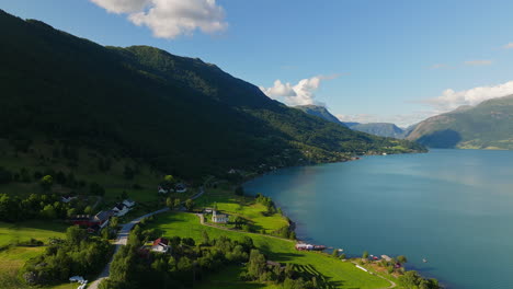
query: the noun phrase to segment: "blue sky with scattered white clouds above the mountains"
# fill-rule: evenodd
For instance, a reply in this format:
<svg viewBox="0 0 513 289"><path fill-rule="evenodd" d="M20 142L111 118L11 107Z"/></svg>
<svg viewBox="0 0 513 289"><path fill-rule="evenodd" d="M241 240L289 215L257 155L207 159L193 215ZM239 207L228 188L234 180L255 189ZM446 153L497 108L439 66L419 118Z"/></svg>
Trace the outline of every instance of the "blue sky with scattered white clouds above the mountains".
<svg viewBox="0 0 513 289"><path fill-rule="evenodd" d="M512 1L0 0L0 8L103 45L200 57L271 97L326 104L346 120L408 125L513 94Z"/></svg>

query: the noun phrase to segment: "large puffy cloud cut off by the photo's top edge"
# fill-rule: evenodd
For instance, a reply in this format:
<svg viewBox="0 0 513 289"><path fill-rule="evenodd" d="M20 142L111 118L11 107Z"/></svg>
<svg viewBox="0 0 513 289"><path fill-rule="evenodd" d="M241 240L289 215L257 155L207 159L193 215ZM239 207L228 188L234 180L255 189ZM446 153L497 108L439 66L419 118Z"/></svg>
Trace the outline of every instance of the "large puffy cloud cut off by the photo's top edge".
<svg viewBox="0 0 513 289"><path fill-rule="evenodd" d="M216 0L91 0L109 12L128 14L138 26L148 26L156 37L175 38L200 30L226 30L225 10Z"/></svg>

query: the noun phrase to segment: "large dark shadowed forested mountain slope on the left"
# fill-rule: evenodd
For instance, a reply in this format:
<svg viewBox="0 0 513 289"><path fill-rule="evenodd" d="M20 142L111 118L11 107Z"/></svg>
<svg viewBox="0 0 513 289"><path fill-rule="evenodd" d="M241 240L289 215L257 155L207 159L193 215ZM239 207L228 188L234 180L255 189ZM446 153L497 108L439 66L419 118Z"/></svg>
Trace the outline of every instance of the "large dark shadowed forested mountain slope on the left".
<svg viewBox="0 0 513 289"><path fill-rule="evenodd" d="M0 11L0 139L130 158L187 177L423 147L309 116L197 58L104 47Z"/></svg>

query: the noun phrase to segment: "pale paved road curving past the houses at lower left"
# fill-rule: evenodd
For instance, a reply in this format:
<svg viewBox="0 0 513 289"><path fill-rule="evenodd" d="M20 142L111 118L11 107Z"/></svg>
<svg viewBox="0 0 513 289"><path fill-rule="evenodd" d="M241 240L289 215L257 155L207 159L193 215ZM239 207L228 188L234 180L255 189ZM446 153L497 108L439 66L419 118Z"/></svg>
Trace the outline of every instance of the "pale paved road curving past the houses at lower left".
<svg viewBox="0 0 513 289"><path fill-rule="evenodd" d="M195 199L195 198L198 198L201 197L203 194L205 193L205 190L203 189L203 187L200 188L200 192L194 195L193 197L191 197L191 199ZM182 201L182 204L184 204L185 201ZM139 218L137 219L134 219L132 220L130 222L128 223L125 223L123 224L122 229L119 230L119 232L117 233L117 239L116 239L116 242L114 243L114 254L112 255L112 258L111 261L105 265L105 268L103 268L102 273L100 274L100 276L98 276L96 280L94 280L93 282L91 282L89 285L89 289L98 289L98 286L100 285L100 282L107 278L109 275L111 274L111 263L112 261L114 259L114 255L116 255L117 251L119 251L119 247L122 245L126 245L127 242L128 242L128 235L130 234L130 231L132 229L134 229L134 227L139 223L142 219L145 218L148 218L150 216L153 216L153 215L157 215L157 213L161 213L161 212L166 212L166 211L169 211L170 209L169 208L163 208L163 209L160 209L160 210L156 210L156 211L152 211L152 212L149 212L149 213L146 213L145 216L140 216Z"/></svg>

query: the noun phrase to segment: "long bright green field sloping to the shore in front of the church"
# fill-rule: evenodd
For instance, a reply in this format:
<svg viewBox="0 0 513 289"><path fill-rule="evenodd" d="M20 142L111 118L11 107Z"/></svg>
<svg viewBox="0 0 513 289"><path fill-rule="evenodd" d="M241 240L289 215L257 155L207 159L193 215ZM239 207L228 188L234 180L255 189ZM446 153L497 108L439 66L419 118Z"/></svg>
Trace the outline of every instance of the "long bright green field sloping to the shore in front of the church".
<svg viewBox="0 0 513 289"><path fill-rule="evenodd" d="M243 235L249 235L253 239L255 246L264 252L269 259L281 263L297 264L303 269L316 274L318 278L323 278L327 280L327 282L330 284L332 288L371 289L386 288L389 286L386 280L357 269L351 263L342 262L321 253L298 252L294 248L294 242L265 235L225 231L202 226L198 218L191 213L169 212L161 215L156 219L155 222L149 224L149 228L162 230L166 236L190 236L196 241L202 240L203 231L206 231L210 239L226 235L233 240L238 240ZM237 271L232 271L231 275L228 273L226 274L227 276L224 277L225 282L230 282L230 278L232 281L237 280L237 276L231 276L237 275ZM223 281L223 278L220 281ZM250 284L248 287L237 286L237 288L264 288L254 286L255 285Z"/></svg>

